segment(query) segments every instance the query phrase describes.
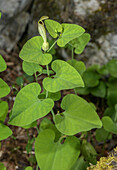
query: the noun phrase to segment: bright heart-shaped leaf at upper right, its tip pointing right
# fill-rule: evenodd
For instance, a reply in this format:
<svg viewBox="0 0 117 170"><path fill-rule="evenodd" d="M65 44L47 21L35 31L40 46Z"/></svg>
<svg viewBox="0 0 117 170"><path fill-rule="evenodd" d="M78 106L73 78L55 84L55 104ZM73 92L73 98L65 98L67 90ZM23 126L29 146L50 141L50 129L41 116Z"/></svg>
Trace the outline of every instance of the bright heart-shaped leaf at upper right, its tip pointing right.
<svg viewBox="0 0 117 170"><path fill-rule="evenodd" d="M69 41L81 36L85 30L76 24L61 24L63 27L63 32L60 38L57 40L57 44L60 47L64 47Z"/></svg>

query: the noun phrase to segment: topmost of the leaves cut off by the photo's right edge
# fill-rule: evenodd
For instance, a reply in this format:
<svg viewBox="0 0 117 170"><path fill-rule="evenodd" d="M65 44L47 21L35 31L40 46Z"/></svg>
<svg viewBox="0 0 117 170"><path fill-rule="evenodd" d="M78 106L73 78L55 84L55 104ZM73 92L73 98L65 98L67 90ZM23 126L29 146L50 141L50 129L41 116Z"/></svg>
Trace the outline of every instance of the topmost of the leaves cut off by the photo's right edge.
<svg viewBox="0 0 117 170"><path fill-rule="evenodd" d="M111 76L117 78L117 59L113 59L108 62L107 68Z"/></svg>

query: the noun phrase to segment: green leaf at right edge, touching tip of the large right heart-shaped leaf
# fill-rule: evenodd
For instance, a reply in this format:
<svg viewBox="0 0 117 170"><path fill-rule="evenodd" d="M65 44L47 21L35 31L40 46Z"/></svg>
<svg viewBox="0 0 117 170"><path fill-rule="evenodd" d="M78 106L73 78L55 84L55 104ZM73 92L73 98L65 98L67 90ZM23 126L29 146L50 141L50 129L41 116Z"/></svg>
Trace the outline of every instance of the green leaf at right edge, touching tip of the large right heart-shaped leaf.
<svg viewBox="0 0 117 170"><path fill-rule="evenodd" d="M112 121L108 116L102 118L103 127L106 131L117 135L117 124Z"/></svg>

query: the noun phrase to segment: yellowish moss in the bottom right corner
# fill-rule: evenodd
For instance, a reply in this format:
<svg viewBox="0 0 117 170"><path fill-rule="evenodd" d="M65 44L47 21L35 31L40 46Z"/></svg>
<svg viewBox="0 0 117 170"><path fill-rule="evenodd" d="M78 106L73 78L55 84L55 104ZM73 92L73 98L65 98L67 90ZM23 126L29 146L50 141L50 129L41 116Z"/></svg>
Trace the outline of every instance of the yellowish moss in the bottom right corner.
<svg viewBox="0 0 117 170"><path fill-rule="evenodd" d="M96 165L91 165L87 170L115 170L117 169L117 147L108 157L101 157Z"/></svg>

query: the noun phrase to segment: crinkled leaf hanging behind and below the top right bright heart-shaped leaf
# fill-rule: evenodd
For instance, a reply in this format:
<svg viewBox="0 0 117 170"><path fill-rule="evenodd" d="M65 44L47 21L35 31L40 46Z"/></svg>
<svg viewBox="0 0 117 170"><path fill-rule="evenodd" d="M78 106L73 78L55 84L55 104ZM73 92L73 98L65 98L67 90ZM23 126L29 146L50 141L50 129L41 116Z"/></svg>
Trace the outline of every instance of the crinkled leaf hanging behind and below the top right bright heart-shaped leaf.
<svg viewBox="0 0 117 170"><path fill-rule="evenodd" d="M76 54L81 54L90 40L90 34L84 33L80 37L72 40L70 44L75 48Z"/></svg>

